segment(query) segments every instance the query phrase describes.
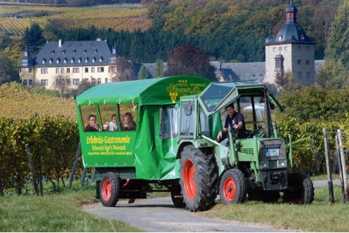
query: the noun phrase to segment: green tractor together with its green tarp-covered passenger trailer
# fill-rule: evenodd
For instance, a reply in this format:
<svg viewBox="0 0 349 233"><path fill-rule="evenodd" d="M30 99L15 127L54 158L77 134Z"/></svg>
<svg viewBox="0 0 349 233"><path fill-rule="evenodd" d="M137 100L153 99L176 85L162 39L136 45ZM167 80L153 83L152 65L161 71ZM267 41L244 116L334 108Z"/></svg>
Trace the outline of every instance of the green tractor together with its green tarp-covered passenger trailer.
<svg viewBox="0 0 349 233"><path fill-rule="evenodd" d="M291 139L279 137L272 123L272 109L281 106L258 81L175 76L105 83L75 102L83 167L95 169L96 197L104 206L157 191L194 212L211 208L218 194L223 204L246 197L276 202L281 193L284 202L313 201L310 178L290 172ZM235 138L229 127L224 146L216 138L232 102L244 115L246 138Z"/></svg>

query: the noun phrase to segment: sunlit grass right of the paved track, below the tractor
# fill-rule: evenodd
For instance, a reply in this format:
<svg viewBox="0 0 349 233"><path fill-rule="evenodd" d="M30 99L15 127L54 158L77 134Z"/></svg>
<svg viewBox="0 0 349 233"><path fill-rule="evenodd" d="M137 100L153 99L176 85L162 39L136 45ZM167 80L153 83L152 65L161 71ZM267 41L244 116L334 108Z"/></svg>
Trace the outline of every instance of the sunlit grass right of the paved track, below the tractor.
<svg viewBox="0 0 349 233"><path fill-rule="evenodd" d="M348 232L349 205L341 202L341 187L335 185L335 204L328 201L328 188L315 188L315 201L309 205L245 202L214 208L200 215L230 221L262 223L278 229L309 232Z"/></svg>

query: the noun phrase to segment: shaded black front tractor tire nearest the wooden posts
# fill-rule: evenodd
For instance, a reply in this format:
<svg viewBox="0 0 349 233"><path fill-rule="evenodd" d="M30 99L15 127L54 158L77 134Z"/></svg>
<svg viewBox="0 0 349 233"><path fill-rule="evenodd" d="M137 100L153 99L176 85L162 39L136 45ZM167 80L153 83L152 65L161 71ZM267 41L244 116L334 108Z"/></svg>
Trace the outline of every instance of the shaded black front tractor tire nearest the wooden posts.
<svg viewBox="0 0 349 233"><path fill-rule="evenodd" d="M314 187L311 179L305 174L288 175L288 188L284 192L283 201L292 204L311 204L314 200Z"/></svg>

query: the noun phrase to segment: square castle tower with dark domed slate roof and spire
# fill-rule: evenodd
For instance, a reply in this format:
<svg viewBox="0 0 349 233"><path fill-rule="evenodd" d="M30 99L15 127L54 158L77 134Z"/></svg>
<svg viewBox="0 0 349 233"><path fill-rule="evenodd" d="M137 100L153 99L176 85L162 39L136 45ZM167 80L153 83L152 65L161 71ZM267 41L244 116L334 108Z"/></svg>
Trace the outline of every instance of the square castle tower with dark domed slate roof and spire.
<svg viewBox="0 0 349 233"><path fill-rule="evenodd" d="M266 76L264 83L274 83L277 76L287 71L294 75L294 81L301 85L313 85L315 78L314 49L304 29L297 23L297 8L292 0L287 6L286 23L276 37L269 32L266 39Z"/></svg>

